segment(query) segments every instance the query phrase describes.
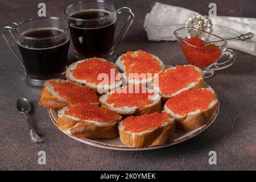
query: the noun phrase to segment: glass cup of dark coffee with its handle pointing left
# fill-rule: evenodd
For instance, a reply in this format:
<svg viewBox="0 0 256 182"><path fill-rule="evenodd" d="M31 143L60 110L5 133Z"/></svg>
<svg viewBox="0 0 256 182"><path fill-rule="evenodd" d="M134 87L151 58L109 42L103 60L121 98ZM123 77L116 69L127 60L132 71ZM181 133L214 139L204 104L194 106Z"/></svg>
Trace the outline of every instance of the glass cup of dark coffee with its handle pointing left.
<svg viewBox="0 0 256 182"><path fill-rule="evenodd" d="M8 31L22 59L7 39L5 33ZM22 64L30 84L42 86L45 80L64 75L70 42L67 20L42 17L19 24L12 22L2 29L2 36Z"/></svg>

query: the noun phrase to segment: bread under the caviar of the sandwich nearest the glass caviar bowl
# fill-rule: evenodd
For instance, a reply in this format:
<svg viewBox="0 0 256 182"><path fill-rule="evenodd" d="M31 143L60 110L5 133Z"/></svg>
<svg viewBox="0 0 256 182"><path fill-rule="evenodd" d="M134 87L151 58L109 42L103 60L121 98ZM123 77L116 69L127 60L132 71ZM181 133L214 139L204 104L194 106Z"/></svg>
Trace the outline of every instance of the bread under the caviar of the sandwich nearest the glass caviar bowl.
<svg viewBox="0 0 256 182"><path fill-rule="evenodd" d="M184 67L191 67L192 65L183 65ZM195 67L195 66L193 66ZM176 69L176 67L172 67L172 68L168 68L166 70L163 71L164 72L167 72L169 71L170 69ZM171 97L174 97L176 96L177 94L185 91L185 90L192 90L192 89L197 89L197 88L201 88L203 85L204 85L204 72L198 68L198 67L195 67L195 70L197 72L200 73L200 77L197 79L196 82L191 82L188 86L186 86L185 88L182 88L180 90L178 90L177 92L175 93L172 93L172 94L164 94L161 89L159 88L159 86L157 84L155 84L155 81L153 82L153 87L154 89L156 90L156 92L159 92L159 94L162 96L163 100L168 100L168 98L171 98ZM161 73L160 73L161 74ZM160 84L160 83L159 83ZM167 83L168 84L168 83Z"/></svg>

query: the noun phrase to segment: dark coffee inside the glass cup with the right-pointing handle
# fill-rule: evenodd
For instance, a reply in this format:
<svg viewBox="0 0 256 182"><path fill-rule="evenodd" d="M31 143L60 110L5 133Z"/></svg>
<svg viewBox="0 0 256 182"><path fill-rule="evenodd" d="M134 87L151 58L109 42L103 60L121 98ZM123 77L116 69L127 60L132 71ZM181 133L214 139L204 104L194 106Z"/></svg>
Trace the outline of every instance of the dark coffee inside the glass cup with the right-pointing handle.
<svg viewBox="0 0 256 182"><path fill-rule="evenodd" d="M71 26L70 29L73 46L78 55L104 57L109 53L113 47L115 20L98 19L109 14L103 10L86 10L71 15L73 18L84 20L77 19L75 27Z"/></svg>

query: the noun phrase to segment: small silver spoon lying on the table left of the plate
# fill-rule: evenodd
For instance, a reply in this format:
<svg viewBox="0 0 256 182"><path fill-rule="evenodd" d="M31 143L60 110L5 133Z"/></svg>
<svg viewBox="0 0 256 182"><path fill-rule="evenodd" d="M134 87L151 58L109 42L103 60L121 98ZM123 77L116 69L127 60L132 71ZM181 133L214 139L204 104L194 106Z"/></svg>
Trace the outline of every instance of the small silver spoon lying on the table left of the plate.
<svg viewBox="0 0 256 182"><path fill-rule="evenodd" d="M31 104L30 102L28 102L28 100L26 100L26 98L19 98L17 100L17 109L19 113L22 113L25 115L26 117L26 121L28 123L28 127L30 129L30 137L33 143L39 143L42 142L43 140L38 136L38 134L36 134L36 130L32 124L30 115L28 115L28 113L30 113L31 111Z"/></svg>

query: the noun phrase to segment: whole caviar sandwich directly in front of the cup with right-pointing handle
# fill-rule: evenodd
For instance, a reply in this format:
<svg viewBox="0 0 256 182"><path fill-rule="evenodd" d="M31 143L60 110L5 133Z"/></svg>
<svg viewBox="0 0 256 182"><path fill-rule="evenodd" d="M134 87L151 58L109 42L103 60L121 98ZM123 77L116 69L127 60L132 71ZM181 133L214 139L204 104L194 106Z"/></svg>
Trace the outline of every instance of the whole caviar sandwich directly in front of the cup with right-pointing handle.
<svg viewBox="0 0 256 182"><path fill-rule="evenodd" d="M69 65L66 70L69 81L85 85L96 92L103 93L122 85L122 75L113 63L93 57Z"/></svg>

